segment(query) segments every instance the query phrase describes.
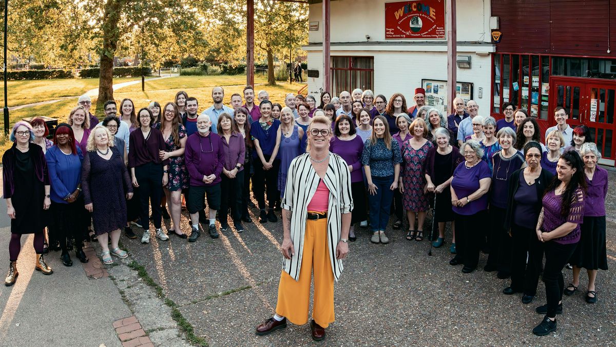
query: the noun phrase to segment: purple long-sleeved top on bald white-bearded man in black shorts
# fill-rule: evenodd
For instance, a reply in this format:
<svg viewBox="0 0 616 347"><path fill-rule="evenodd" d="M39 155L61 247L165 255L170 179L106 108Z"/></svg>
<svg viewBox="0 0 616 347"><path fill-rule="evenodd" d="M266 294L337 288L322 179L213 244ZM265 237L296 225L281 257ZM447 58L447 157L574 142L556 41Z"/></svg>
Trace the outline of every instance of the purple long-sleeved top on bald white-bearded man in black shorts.
<svg viewBox="0 0 616 347"><path fill-rule="evenodd" d="M224 166L224 144L221 136L209 132L208 136L201 136L198 132L188 136L184 161L190 174L191 186L213 186L221 182L222 167ZM203 182L204 176L214 174L214 182Z"/></svg>

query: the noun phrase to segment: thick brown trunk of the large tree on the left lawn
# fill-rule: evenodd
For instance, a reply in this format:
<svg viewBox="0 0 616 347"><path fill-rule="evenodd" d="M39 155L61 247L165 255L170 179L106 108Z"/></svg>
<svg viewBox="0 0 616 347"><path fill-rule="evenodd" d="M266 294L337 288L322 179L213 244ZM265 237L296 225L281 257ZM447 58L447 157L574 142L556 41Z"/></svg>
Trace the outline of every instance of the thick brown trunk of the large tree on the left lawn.
<svg viewBox="0 0 616 347"><path fill-rule="evenodd" d="M113 56L118 48L121 9L125 1L107 0L103 17L103 47L100 52L99 98L96 101L97 113L102 114L103 104L113 100Z"/></svg>

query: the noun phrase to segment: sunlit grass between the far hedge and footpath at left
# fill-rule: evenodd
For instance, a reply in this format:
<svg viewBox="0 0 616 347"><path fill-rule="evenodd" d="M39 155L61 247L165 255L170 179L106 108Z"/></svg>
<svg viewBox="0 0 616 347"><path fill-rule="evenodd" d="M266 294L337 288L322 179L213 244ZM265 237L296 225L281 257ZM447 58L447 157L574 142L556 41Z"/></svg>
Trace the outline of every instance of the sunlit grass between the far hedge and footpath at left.
<svg viewBox="0 0 616 347"><path fill-rule="evenodd" d="M138 80L139 78L114 78L113 83ZM8 81L9 107L34 102L79 96L86 91L99 88L98 78L68 78L57 80ZM4 88L0 88L4 102Z"/></svg>

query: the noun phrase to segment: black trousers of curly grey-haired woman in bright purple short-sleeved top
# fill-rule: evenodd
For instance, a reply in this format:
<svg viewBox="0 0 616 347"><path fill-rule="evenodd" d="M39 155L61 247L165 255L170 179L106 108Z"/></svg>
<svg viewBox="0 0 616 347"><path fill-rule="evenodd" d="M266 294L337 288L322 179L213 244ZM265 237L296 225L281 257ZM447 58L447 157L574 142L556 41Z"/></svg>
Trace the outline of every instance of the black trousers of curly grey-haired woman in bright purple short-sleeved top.
<svg viewBox="0 0 616 347"><path fill-rule="evenodd" d="M486 217L486 210L471 215L455 214L457 253L454 259L462 262L464 267L475 269L479 264Z"/></svg>

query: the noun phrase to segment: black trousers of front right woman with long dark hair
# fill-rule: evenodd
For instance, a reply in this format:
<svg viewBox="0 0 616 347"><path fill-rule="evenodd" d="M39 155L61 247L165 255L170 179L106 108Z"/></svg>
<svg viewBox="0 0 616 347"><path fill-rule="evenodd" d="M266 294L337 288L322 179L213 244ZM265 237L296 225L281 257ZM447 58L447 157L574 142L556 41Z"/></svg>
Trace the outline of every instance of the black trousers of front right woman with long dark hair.
<svg viewBox="0 0 616 347"><path fill-rule="evenodd" d="M543 282L545 282L545 296L548 302L548 317L556 317L558 302L562 300L562 291L565 283L562 278L562 268L569 262L569 257L575 251L577 243L561 245L554 240L545 243L545 268L543 269Z"/></svg>

